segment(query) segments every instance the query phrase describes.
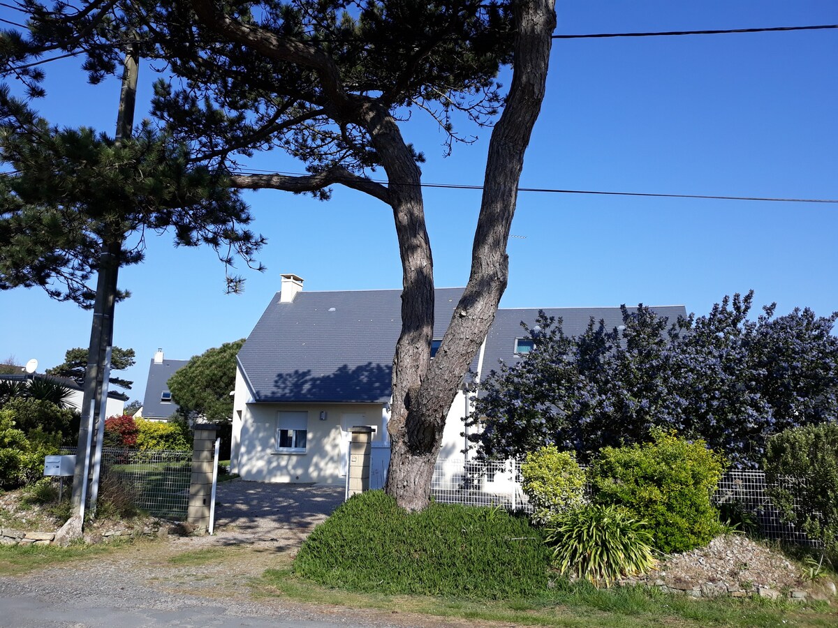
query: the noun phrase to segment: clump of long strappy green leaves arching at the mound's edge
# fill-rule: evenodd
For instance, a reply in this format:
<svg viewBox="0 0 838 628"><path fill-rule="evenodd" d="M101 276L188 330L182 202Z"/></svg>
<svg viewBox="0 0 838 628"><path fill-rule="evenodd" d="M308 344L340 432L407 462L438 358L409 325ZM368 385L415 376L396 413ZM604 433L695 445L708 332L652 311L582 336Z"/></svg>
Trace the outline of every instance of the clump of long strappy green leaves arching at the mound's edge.
<svg viewBox="0 0 838 628"><path fill-rule="evenodd" d="M553 565L561 574L608 586L654 567L646 528L646 522L621 506L585 505L555 517L546 543L553 547Z"/></svg>

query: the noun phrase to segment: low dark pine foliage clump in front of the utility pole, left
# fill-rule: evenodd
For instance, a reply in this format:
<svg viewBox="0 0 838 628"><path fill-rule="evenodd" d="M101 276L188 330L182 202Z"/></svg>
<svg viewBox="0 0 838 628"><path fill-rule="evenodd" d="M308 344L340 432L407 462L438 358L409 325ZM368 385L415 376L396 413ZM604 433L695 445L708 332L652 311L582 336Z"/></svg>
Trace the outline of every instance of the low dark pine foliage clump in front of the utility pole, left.
<svg viewBox="0 0 838 628"><path fill-rule="evenodd" d="M171 231L175 245L210 245L228 266L234 254L251 265L264 243L225 174L148 123L120 141L59 129L0 86L0 162L13 171L0 177L0 290L37 286L90 307L103 242L127 239L120 263L132 265L148 234Z"/></svg>

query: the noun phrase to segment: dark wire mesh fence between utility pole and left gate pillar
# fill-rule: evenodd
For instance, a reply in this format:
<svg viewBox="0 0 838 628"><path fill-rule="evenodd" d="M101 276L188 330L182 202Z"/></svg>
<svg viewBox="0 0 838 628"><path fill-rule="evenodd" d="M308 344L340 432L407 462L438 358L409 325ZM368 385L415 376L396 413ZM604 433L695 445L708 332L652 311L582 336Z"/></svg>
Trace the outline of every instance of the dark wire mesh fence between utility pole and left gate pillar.
<svg viewBox="0 0 838 628"><path fill-rule="evenodd" d="M182 521L189 506L191 476L191 451L106 447L102 449L99 499L125 499L154 517Z"/></svg>

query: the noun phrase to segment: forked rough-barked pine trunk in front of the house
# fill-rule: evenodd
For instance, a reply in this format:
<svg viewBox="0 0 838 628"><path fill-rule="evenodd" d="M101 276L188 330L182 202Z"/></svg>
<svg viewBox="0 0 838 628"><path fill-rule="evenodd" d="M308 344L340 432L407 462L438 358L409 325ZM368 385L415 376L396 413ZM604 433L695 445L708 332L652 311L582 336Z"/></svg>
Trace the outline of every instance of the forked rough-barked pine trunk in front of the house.
<svg viewBox="0 0 838 628"><path fill-rule="evenodd" d="M472 269L442 344L430 360L433 293L430 246L416 222L396 231L404 264L402 332L393 362L393 404L388 426L392 449L386 490L408 511L428 504L448 409L480 344L494 321L506 288L506 243L515 214L520 172L530 134L544 100L551 35L556 28L555 0L522 0L515 10L517 33L512 85L504 113L489 142L484 194L472 250ZM394 190L391 181L391 191ZM423 260L422 255L427 255ZM406 256L409 259L406 260ZM409 262L409 265L408 265ZM417 271L426 281L416 281Z"/></svg>

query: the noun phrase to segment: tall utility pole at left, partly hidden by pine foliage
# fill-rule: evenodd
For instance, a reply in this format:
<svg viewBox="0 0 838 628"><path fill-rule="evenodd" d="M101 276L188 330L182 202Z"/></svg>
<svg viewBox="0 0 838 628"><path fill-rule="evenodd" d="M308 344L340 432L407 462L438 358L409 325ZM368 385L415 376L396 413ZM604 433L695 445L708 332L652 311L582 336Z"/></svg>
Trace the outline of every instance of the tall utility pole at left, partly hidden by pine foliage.
<svg viewBox="0 0 838 628"><path fill-rule="evenodd" d="M125 55L122 72L122 91L119 114L116 118L116 142L131 136L134 126L134 108L137 100L137 75L139 71L139 44L131 44ZM122 233L103 236L96 280L96 301L93 306L91 343L85 371L84 401L81 405L79 446L75 457L73 476L73 517L80 533L84 524L85 506L90 501L91 513L96 512L99 492L99 465L102 439L105 434L108 375L111 370L113 345L113 312L116 303L116 278L119 274L122 252ZM92 476L91 476L92 473ZM91 481L92 480L92 481ZM90 493L88 483L90 482ZM88 500L89 495L89 500ZM65 528L70 525L65 524Z"/></svg>

